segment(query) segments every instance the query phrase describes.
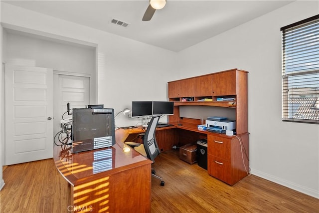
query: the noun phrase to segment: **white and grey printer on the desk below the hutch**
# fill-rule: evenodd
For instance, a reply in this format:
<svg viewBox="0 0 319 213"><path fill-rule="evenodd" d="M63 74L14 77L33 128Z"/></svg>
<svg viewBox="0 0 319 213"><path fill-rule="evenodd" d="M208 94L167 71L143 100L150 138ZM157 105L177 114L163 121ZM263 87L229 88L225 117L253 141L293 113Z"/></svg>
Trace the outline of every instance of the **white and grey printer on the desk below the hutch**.
<svg viewBox="0 0 319 213"><path fill-rule="evenodd" d="M206 120L206 130L216 133L223 133L226 130L236 129L236 121L228 120L226 117L208 117Z"/></svg>

